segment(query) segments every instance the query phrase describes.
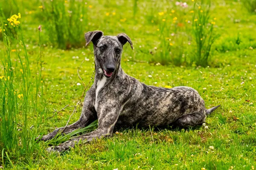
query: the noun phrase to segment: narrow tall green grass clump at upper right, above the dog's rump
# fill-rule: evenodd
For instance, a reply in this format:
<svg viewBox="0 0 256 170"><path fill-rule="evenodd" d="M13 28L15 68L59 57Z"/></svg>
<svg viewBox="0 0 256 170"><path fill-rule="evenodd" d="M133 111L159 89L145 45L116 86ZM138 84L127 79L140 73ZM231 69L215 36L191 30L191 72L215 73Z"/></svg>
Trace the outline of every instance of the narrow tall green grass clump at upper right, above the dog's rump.
<svg viewBox="0 0 256 170"><path fill-rule="evenodd" d="M203 67L208 65L212 44L219 36L215 34L216 18L210 21L210 8L210 0L201 0L200 3L194 4L194 9L191 11L193 13L192 32L196 42L196 49L190 62Z"/></svg>

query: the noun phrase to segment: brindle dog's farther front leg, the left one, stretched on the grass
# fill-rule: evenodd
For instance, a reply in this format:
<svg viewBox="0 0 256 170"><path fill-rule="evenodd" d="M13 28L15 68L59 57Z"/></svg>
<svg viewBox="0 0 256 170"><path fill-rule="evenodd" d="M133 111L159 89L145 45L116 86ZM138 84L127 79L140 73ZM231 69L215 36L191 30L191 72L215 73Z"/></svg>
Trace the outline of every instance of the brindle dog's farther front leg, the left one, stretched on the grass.
<svg viewBox="0 0 256 170"><path fill-rule="evenodd" d="M94 108L94 103L95 103L95 97L93 95L93 88L91 88L89 91L87 91L86 96L84 98L84 105L83 105L82 113L79 120L73 123L72 125L55 129L53 132L47 135L44 135L41 138L41 140L47 141L52 139L58 132L61 132L61 134L67 134L67 133L73 132L78 128L83 128L89 125L91 122L97 119L97 113Z"/></svg>

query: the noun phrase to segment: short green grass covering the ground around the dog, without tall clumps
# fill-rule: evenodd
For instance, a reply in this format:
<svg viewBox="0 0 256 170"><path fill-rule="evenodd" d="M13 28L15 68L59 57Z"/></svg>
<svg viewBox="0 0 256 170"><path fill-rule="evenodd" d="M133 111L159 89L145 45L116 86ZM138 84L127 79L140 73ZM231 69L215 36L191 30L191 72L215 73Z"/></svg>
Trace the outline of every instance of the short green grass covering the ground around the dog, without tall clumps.
<svg viewBox="0 0 256 170"><path fill-rule="evenodd" d="M207 108L219 104L221 108L207 117L208 128L202 126L172 129L170 127L158 130L155 127L152 130L131 127L119 130L119 133L114 133L111 138L97 139L61 154L47 153L45 151L48 147L47 143L36 143L34 139L39 134L47 134L55 127L66 125L74 109L71 106L76 106L83 94L83 83L87 85L93 74L93 47L90 45L69 50L58 49L58 45L54 45L58 44L57 42L49 41L49 30L45 25L47 21L43 20L41 8L38 8L41 6L41 1L31 0L31 3L23 1L21 3L20 0L12 0L12 2L20 4L12 7L9 13L21 13L24 42L17 46L19 43L17 39L10 38L10 59L7 61L12 63L13 72L7 70L8 73L5 73L3 65L6 62L3 62L0 64L0 76L10 74L13 89L17 89L18 94L25 94L22 89L27 86L23 84L23 75L25 75L27 77L25 83L29 83L29 94L24 95L24 98L27 96L27 103L21 103L15 95L12 96L15 100L8 98L9 101L6 101L7 104L12 103L13 108L17 108L15 122L18 124L10 118L9 126L12 127L14 139L8 140L12 137L7 138L3 135L3 127L7 125L3 125L4 121L0 119L0 166L4 169L194 170L204 167L228 170L233 167L236 170L250 170L252 166L256 167L256 34L253 34L256 17L245 10L241 2L216 0L212 3L211 16L217 19L215 26L218 26L217 33L221 34L221 37L212 44L209 67L203 68L183 63L177 67L173 62L169 65L156 65L157 61L152 62L156 56L160 56L157 53L162 46L160 32L157 29L163 21L158 12L172 10L169 8L173 6L172 3L169 4L167 1L150 3L142 0L119 1L119 3L87 1L88 28L82 29L84 32L97 29L102 30L105 35L125 32L131 37L134 50L125 45L122 54L122 68L127 74L147 85L159 87L185 85L195 88L205 100ZM185 9L184 13L191 16L189 10L193 8L193 3L191 0L186 2L189 8ZM135 3L137 6L134 6ZM92 8L89 8L90 5ZM17 7L19 11L15 11ZM176 8L175 6L175 11L178 10ZM8 10L5 14L8 14ZM177 16L182 14L179 13ZM185 19L183 17L183 20ZM151 20L154 20L154 23L151 23ZM37 29L39 25L42 25L41 47ZM84 36L84 32L80 33L81 37ZM171 34L172 30L169 33ZM192 35L192 30L190 33ZM21 40L20 33L17 34ZM186 45L191 42L191 46L195 47L195 42L183 38L182 40L176 38L174 41L174 44L183 43L180 46L184 46L181 50L185 49L183 51L185 59L192 55ZM26 47L25 51L23 44ZM4 56L7 57L7 54L3 45L4 42L0 41L0 57L6 61ZM85 42L80 45L85 45ZM154 47L157 47L157 50ZM175 45L170 49L175 49ZM20 59L17 52L20 54ZM166 51L163 53L168 54ZM84 61L85 57L87 60ZM184 58L181 59L182 62ZM24 73L30 72L30 75L21 74L23 62L26 63ZM82 80L77 74L80 65L79 75ZM78 82L81 85L77 85ZM11 84L8 87L11 87ZM7 95L3 91L5 89L0 91L0 96ZM2 111L7 113L9 110L4 110L2 104L1 114ZM53 110L59 111L68 104L69 107L58 113ZM77 110L69 124L79 119L81 105L78 105ZM25 124L27 125L24 127ZM52 143L56 142L58 141L52 141ZM10 147L4 147L6 144ZM210 146L214 149L210 149Z"/></svg>

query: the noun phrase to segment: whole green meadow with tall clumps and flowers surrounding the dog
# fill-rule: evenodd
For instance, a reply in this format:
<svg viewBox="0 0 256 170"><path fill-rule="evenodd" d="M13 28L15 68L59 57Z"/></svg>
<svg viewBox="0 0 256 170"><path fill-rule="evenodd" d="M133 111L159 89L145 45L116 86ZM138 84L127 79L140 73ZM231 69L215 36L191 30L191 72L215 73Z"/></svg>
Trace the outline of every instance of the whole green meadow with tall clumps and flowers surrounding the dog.
<svg viewBox="0 0 256 170"><path fill-rule="evenodd" d="M221 108L201 127L121 129L47 153L70 136L35 138L70 115L76 122L93 83L93 45L84 40L93 30L131 37L134 50L125 45L122 54L127 74L195 88L207 108ZM0 169L253 170L255 33L256 0L0 0Z"/></svg>

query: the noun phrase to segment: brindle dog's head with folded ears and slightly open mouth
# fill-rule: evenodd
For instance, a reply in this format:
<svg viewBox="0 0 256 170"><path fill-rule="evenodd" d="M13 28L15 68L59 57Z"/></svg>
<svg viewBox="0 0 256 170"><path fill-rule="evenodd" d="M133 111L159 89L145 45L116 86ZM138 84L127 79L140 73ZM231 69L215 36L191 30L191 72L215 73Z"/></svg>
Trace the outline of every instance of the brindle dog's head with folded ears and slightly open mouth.
<svg viewBox="0 0 256 170"><path fill-rule="evenodd" d="M121 61L123 45L131 39L124 33L117 36L103 36L102 31L89 31L84 35L86 45L93 42L95 62L99 63L105 77L109 78Z"/></svg>

